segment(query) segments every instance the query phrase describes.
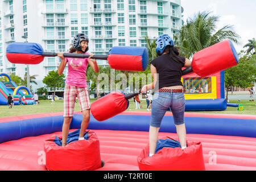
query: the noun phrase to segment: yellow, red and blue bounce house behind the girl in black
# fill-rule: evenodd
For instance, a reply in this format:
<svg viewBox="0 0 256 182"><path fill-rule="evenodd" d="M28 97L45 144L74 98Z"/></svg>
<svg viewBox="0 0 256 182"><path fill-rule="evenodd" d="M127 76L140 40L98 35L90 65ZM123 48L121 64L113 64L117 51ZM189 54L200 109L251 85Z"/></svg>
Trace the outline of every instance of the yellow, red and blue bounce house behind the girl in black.
<svg viewBox="0 0 256 182"><path fill-rule="evenodd" d="M192 72L181 78L184 85L186 111L225 110L224 71L207 77Z"/></svg>

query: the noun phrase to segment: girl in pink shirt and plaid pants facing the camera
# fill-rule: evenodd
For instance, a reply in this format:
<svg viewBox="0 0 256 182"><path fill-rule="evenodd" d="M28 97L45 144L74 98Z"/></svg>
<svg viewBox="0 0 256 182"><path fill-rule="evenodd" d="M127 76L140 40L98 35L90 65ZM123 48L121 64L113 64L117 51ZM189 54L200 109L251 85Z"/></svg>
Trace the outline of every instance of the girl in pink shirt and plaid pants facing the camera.
<svg viewBox="0 0 256 182"><path fill-rule="evenodd" d="M69 52L71 53L84 53L89 55L88 51L88 36L85 34L77 34L73 39L73 44ZM90 121L90 101L89 92L86 84L86 69L88 63L93 68L94 72L98 73L99 68L95 59L92 59L92 54L89 58L76 59L71 57L64 57L63 52L58 53L61 58L58 73L61 75L65 66L68 63L68 75L65 81L64 91L64 122L62 127L62 146L66 145L69 133L69 125L72 121L76 97L79 99L82 123L79 139L84 139L85 130Z"/></svg>

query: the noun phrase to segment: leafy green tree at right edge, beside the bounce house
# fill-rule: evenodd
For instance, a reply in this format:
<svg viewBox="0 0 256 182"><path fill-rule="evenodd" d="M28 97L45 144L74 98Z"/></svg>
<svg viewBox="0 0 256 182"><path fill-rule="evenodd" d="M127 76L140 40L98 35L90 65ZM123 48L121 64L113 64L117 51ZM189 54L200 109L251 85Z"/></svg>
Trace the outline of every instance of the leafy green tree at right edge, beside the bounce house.
<svg viewBox="0 0 256 182"><path fill-rule="evenodd" d="M241 52L242 53L242 52ZM240 55L241 55L240 53ZM239 64L225 70L226 100L228 100L229 86L247 88L256 81L256 55L243 55Z"/></svg>

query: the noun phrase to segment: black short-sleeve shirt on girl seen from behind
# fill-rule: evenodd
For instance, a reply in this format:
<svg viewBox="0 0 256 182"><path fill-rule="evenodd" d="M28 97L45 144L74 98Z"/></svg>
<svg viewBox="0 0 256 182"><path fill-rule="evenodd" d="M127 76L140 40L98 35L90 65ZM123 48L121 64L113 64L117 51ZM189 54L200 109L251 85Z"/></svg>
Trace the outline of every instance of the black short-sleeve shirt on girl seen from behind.
<svg viewBox="0 0 256 182"><path fill-rule="evenodd" d="M185 57L179 57L182 62L175 61L168 53L166 53L156 57L156 59L150 62L150 64L154 65L158 73L159 89L167 86L183 86L181 82L181 68L184 67Z"/></svg>

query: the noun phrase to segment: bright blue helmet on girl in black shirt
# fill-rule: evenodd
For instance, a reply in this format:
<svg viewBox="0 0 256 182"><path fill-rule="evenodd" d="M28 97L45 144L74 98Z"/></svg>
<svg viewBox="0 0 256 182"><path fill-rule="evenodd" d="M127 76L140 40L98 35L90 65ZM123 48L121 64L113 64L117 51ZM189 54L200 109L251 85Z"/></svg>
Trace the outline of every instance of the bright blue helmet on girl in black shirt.
<svg viewBox="0 0 256 182"><path fill-rule="evenodd" d="M155 40L155 44L156 44L155 51L160 56L162 55L166 46L174 46L174 40L172 40L172 38L169 35L164 34L159 36Z"/></svg>

